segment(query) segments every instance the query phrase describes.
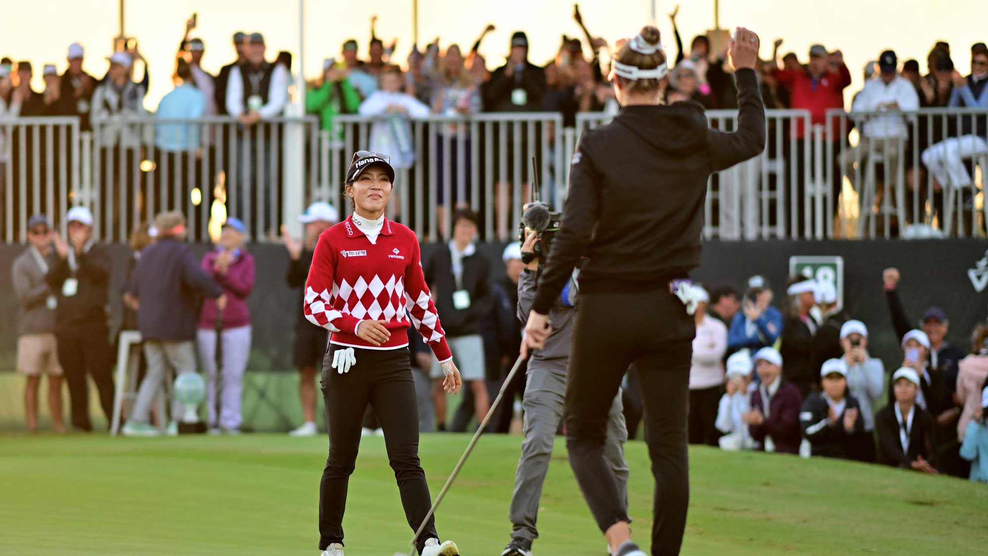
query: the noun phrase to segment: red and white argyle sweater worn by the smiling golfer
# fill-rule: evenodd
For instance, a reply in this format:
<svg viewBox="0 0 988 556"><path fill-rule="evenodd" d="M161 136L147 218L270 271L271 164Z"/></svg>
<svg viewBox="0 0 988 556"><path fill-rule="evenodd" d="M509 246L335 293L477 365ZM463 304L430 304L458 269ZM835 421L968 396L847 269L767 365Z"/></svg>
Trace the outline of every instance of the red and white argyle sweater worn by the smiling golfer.
<svg viewBox="0 0 988 556"><path fill-rule="evenodd" d="M310 323L330 330L330 342L338 345L405 347L405 329L411 324L441 363L453 358L422 274L418 237L386 218L376 243L352 216L319 235L305 281L303 312ZM367 320L386 321L390 339L374 346L359 337L357 326Z"/></svg>

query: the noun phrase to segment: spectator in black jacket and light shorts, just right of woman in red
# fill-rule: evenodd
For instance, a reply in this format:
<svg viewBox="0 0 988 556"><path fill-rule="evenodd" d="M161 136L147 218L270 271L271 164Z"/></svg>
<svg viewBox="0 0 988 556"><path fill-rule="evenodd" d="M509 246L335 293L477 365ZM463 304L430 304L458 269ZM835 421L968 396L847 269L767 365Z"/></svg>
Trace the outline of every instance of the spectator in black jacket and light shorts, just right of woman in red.
<svg viewBox="0 0 988 556"><path fill-rule="evenodd" d="M477 217L469 210L453 214L453 239L441 245L424 265L426 283L433 293L437 311L443 315L443 329L460 369L463 383L473 392L479 422L490 408L485 382L483 338L480 322L491 310L490 261L477 252L474 240ZM433 400L440 430L446 428L446 396L443 371L433 365Z"/></svg>

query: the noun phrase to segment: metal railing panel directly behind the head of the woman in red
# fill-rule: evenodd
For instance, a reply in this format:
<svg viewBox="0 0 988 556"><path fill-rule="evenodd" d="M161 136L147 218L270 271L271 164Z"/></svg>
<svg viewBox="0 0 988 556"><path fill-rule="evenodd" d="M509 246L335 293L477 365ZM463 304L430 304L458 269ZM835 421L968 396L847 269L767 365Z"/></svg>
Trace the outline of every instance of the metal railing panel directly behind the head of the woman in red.
<svg viewBox="0 0 988 556"><path fill-rule="evenodd" d="M404 119L340 116L338 131L324 132L315 197L340 202L350 155L360 148L399 145L391 154L397 176L389 217L400 217L420 237L448 236L453 210L480 216L484 239L516 235L522 206L537 177L542 198L558 206L569 158L563 148L562 117L555 113L476 114ZM535 158L535 167L533 166ZM535 176L537 173L537 176ZM341 211L345 213L345 211Z"/></svg>

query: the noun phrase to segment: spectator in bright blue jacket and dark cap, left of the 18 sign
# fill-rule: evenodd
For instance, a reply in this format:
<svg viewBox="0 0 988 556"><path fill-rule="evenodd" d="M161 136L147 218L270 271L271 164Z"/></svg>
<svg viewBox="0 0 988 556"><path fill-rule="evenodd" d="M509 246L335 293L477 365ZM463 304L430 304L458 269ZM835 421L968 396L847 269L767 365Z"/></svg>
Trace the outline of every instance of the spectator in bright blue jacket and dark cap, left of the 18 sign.
<svg viewBox="0 0 988 556"><path fill-rule="evenodd" d="M734 316L727 334L729 353L748 348L757 351L776 343L782 334L782 313L772 304L772 289L762 276L748 280L741 312Z"/></svg>

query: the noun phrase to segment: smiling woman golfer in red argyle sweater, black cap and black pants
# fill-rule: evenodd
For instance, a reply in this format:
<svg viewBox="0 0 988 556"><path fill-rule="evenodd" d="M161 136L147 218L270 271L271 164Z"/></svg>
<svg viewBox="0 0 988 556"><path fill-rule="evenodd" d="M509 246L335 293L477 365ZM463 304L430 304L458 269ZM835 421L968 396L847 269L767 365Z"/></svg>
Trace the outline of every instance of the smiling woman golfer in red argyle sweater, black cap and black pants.
<svg viewBox="0 0 988 556"><path fill-rule="evenodd" d="M346 181L354 214L319 236L305 283L305 318L330 331L320 380L329 424L329 459L319 489L323 556L343 556L347 484L368 404L384 430L387 456L412 530L432 506L419 464L408 326L425 336L442 363L446 391L456 394L461 385L422 275L419 240L415 232L384 218L393 185L394 169L386 154L354 154ZM459 554L453 541L440 544L434 517L416 545L422 556Z"/></svg>

